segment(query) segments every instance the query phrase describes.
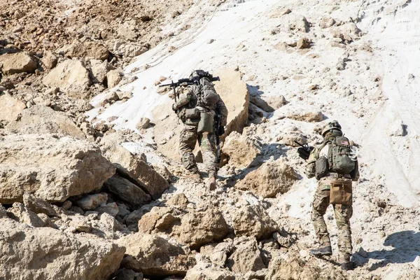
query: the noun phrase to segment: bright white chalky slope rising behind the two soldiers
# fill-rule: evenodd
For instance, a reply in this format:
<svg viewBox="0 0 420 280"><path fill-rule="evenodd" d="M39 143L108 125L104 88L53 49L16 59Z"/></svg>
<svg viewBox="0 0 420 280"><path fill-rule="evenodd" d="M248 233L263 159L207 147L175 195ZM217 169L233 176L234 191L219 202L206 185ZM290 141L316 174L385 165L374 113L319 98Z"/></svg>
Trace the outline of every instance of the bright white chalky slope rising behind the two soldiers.
<svg viewBox="0 0 420 280"><path fill-rule="evenodd" d="M99 115L98 107L90 116L102 120L118 116L116 128L135 130L141 117L152 118L155 106L171 102L167 95L156 93L155 82L161 76L169 82L188 77L193 69L213 72L239 66L251 95L265 99L281 94L288 101L265 115L268 123L260 135L263 143L275 144L279 132L293 127L307 135L309 143L318 143L316 123L283 117L322 111L325 118L338 120L346 136L360 145L361 180L354 194L353 240L358 240L356 251L363 246L372 253L356 256L358 264L368 270L355 273L404 279L403 273L413 268L411 262L419 251L395 247L397 253L390 256L384 251L390 246L384 239L398 230L419 229L420 1L237 2L244 3L212 6L212 1L197 0L175 20L168 19L164 32L174 36L125 69L125 75L138 79L120 90L132 90L134 97ZM286 8L292 12L283 15ZM307 31L302 29L302 17L309 22ZM321 28L325 17L333 18L335 25ZM353 41L342 43L339 34L347 34ZM312 41L309 50L284 44L304 37ZM172 46L176 50L169 52ZM337 69L343 62L345 69ZM310 90L311 85L318 85L318 90ZM102 99L104 95L92 104L99 106ZM295 151L288 151L288 156L297 162ZM302 174L303 167L295 168ZM302 228L311 228L315 187L313 179L300 180L288 194L273 200L269 214L282 221L298 218ZM375 203L379 200L394 207L387 216L377 213ZM285 210L286 204L290 207ZM333 227L330 221L328 225ZM309 246L313 238L307 239ZM411 244L420 246L420 239ZM360 276L355 275L356 279Z"/></svg>

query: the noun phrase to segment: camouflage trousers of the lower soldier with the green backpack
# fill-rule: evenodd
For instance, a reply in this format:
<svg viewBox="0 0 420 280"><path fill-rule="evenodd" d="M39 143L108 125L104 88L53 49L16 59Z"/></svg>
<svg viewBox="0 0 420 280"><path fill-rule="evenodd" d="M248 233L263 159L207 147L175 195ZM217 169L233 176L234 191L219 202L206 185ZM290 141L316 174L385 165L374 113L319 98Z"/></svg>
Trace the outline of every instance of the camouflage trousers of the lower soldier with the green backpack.
<svg viewBox="0 0 420 280"><path fill-rule="evenodd" d="M315 234L323 246L330 245L330 234L323 216L330 204L330 180L322 178L312 202L312 223L314 224ZM340 257L349 260L351 256L351 229L350 218L353 214L351 205L332 204L335 214L335 222L338 230L338 249Z"/></svg>

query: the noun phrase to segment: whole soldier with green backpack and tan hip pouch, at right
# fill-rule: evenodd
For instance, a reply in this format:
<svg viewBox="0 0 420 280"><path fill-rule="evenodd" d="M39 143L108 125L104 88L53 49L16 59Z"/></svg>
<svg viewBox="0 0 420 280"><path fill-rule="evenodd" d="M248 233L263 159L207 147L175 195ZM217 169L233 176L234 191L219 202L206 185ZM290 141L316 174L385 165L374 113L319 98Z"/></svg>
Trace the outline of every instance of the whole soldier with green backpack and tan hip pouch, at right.
<svg viewBox="0 0 420 280"><path fill-rule="evenodd" d="M351 257L350 218L353 214L351 182L359 177L356 153L349 139L343 136L341 126L334 120L323 127L323 143L314 148L309 155L305 174L316 177L311 220L315 234L321 244L311 250L312 255L332 255L330 235L323 215L332 204L338 229L339 262L342 269L353 268Z"/></svg>

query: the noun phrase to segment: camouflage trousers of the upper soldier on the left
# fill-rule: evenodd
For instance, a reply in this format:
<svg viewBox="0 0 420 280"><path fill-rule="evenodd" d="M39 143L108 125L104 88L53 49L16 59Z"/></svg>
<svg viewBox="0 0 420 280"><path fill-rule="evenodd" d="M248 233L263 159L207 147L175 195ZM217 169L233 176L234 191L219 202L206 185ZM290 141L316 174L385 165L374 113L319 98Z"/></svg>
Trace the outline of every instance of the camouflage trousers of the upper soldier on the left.
<svg viewBox="0 0 420 280"><path fill-rule="evenodd" d="M184 129L181 132L179 155L181 155L183 166L190 172L195 173L198 171L193 154L197 141L200 145L204 167L207 169L209 177L216 176L218 171L216 135L209 132L198 133L195 125L184 125Z"/></svg>

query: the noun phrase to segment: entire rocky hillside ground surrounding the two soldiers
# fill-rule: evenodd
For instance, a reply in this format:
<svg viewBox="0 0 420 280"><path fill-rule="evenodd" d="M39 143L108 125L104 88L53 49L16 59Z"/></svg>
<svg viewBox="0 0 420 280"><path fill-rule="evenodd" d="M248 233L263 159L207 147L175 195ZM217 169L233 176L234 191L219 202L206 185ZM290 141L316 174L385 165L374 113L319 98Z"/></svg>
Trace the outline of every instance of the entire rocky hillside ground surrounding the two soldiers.
<svg viewBox="0 0 420 280"><path fill-rule="evenodd" d="M420 6L388 2L5 1L0 279L419 279ZM230 111L214 192L158 87L197 68ZM349 272L332 209L309 255L293 142L332 119L360 149Z"/></svg>

